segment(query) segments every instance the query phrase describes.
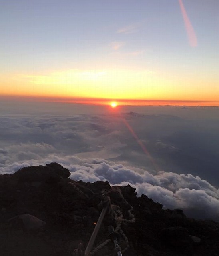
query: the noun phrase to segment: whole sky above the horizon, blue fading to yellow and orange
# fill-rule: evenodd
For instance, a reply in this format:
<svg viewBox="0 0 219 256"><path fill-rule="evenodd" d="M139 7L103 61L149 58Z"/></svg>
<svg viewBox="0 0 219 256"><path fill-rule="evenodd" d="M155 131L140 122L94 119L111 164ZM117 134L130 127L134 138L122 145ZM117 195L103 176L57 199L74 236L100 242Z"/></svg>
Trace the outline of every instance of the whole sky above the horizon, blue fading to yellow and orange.
<svg viewBox="0 0 219 256"><path fill-rule="evenodd" d="M0 98L219 105L218 10L218 0L1 0Z"/></svg>

